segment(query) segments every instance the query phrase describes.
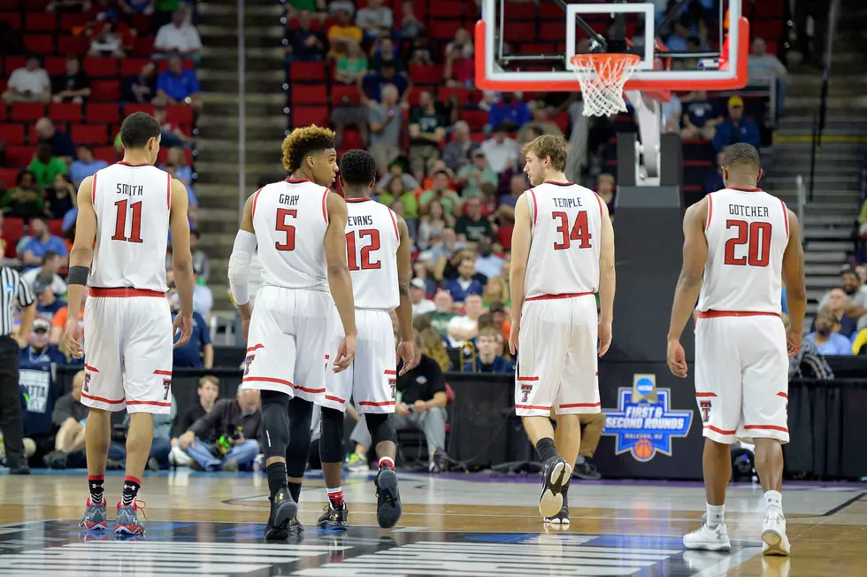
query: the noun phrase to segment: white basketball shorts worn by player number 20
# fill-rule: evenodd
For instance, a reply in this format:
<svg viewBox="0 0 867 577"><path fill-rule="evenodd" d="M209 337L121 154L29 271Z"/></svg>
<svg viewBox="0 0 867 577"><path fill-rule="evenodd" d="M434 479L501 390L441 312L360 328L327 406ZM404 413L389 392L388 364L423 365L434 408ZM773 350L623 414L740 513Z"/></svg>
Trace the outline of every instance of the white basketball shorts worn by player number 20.
<svg viewBox="0 0 867 577"><path fill-rule="evenodd" d="M788 442L788 354L778 315L702 312L695 327L695 400L716 442Z"/></svg>

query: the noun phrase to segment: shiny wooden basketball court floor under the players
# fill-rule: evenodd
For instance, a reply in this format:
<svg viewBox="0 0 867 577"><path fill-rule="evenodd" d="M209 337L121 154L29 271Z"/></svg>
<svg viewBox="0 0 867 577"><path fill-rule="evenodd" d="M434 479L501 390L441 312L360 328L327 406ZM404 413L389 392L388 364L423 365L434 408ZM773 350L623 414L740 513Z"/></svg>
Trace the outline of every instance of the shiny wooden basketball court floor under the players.
<svg viewBox="0 0 867 577"><path fill-rule="evenodd" d="M110 473L111 474L111 473ZM267 482L260 473L161 473L142 487L147 534L121 540L81 532L85 473L0 476L0 575L863 575L867 500L860 484L787 483L793 556L763 558L757 486L730 489L730 554L686 551L681 535L704 510L698 483L574 481L572 525L543 527L535 478L487 473L401 475L398 527L376 526L366 475L344 482L346 532L319 531L321 476L306 482L299 541L265 542ZM119 495L122 477L106 492ZM111 515L110 515L111 518Z"/></svg>

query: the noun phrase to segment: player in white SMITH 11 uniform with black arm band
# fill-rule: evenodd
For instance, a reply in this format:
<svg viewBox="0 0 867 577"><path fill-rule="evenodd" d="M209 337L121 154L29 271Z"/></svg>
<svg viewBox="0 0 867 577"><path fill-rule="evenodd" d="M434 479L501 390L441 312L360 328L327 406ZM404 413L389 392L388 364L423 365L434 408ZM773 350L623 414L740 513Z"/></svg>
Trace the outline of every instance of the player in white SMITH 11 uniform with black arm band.
<svg viewBox="0 0 867 577"><path fill-rule="evenodd" d="M187 188L154 166L159 123L135 112L120 127L124 159L81 182L75 242L69 254L69 319L65 342L84 356L81 403L87 427L87 511L81 527L108 528L105 459L111 412L127 410L127 476L115 532L142 535L135 500L153 441L154 414L172 410L172 341L188 341L193 328L193 258L189 250ZM172 322L165 298L165 245L172 233L174 280L180 314ZM84 308L84 333L79 312ZM174 328L173 328L174 325ZM87 336L82 347L81 340Z"/></svg>

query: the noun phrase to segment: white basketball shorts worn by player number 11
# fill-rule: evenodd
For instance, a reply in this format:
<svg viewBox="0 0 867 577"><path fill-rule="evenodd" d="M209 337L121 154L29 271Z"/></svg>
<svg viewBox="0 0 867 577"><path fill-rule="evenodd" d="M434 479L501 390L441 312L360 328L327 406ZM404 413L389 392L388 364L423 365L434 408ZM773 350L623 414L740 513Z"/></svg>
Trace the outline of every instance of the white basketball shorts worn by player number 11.
<svg viewBox="0 0 867 577"><path fill-rule="evenodd" d="M172 346L172 312L163 293L90 289L81 403L112 412L171 412Z"/></svg>

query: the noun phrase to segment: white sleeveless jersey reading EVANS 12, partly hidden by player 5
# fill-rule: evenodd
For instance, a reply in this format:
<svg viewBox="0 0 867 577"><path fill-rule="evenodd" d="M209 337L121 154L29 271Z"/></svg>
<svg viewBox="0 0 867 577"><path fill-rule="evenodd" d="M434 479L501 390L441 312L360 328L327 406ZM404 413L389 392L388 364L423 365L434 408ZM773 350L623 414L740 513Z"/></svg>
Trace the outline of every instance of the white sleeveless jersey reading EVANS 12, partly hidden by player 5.
<svg viewBox="0 0 867 577"><path fill-rule="evenodd" d="M347 198L346 253L357 309L391 311L400 304L395 212L370 198Z"/></svg>

